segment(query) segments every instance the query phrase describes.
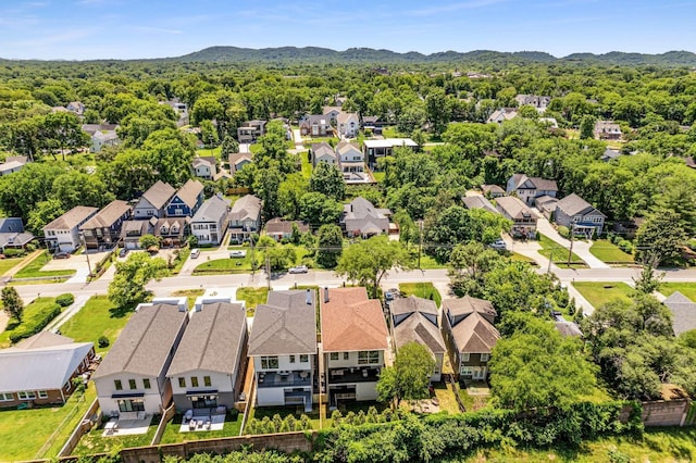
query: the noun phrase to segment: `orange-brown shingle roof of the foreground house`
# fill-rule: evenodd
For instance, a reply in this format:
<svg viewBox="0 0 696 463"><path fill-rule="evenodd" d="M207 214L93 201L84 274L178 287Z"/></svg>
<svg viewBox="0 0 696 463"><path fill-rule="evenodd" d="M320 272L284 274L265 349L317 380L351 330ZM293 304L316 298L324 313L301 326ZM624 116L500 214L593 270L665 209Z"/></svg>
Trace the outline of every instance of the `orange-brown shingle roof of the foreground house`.
<svg viewBox="0 0 696 463"><path fill-rule="evenodd" d="M388 348L382 303L368 299L365 288L328 289L328 302L322 300L321 318L324 352Z"/></svg>

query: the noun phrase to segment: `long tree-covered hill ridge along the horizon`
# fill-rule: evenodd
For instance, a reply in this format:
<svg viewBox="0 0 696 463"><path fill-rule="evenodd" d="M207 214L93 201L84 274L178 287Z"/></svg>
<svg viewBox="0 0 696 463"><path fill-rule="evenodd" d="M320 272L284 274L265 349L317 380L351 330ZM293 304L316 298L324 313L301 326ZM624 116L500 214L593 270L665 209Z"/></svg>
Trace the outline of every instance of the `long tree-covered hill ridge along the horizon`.
<svg viewBox="0 0 696 463"><path fill-rule="evenodd" d="M417 51L397 53L391 50L375 50L372 48L349 48L336 51L320 47L279 47L279 48L239 48L210 47L183 57L170 58L167 61L183 62L346 62L346 63L433 63L448 61L469 62L520 62L520 63L554 63L554 62L587 62L624 65L666 65L666 66L696 66L696 53L691 51L668 51L661 54L625 53L612 51L604 54L573 53L564 58L556 58L542 51L500 52L493 50L474 50L468 52L444 51L423 54Z"/></svg>

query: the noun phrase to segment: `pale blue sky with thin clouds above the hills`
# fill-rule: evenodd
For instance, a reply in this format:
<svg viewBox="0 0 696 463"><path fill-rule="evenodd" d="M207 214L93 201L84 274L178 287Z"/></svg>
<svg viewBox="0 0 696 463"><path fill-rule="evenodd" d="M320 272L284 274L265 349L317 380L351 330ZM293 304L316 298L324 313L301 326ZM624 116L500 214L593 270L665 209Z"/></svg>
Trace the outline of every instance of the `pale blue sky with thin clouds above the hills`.
<svg viewBox="0 0 696 463"><path fill-rule="evenodd" d="M0 57L136 59L211 46L696 52L696 0L0 0Z"/></svg>

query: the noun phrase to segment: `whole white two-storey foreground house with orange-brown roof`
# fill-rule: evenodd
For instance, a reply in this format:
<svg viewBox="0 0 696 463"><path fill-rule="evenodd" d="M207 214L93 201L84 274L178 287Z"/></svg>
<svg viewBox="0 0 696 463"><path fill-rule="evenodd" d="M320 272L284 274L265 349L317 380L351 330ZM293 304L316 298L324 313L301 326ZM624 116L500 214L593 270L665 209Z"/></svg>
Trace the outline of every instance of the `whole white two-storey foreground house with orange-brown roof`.
<svg viewBox="0 0 696 463"><path fill-rule="evenodd" d="M328 405L376 400L389 335L382 303L365 288L324 288L321 304L324 378Z"/></svg>

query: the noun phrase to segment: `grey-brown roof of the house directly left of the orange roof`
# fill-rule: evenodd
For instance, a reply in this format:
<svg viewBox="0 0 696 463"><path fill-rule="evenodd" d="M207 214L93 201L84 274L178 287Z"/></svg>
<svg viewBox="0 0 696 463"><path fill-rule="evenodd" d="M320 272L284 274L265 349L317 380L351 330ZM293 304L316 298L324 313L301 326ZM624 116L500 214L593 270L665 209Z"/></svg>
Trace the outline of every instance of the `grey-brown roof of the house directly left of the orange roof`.
<svg viewBox="0 0 696 463"><path fill-rule="evenodd" d="M309 289L269 292L266 303L254 312L248 354L315 354L315 304L314 291Z"/></svg>

